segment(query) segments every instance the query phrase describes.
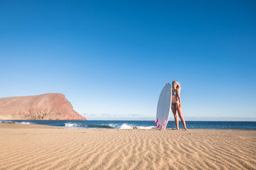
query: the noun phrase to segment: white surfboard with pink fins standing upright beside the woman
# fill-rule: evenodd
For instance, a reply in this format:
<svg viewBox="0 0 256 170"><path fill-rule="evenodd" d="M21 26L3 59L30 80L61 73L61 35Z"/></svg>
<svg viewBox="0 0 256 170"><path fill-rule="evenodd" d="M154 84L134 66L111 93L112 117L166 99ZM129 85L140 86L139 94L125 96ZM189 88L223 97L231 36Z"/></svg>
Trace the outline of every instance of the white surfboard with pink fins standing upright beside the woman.
<svg viewBox="0 0 256 170"><path fill-rule="evenodd" d="M171 111L171 84L168 82L162 88L158 99L158 108L156 110L156 125L158 130L165 130Z"/></svg>

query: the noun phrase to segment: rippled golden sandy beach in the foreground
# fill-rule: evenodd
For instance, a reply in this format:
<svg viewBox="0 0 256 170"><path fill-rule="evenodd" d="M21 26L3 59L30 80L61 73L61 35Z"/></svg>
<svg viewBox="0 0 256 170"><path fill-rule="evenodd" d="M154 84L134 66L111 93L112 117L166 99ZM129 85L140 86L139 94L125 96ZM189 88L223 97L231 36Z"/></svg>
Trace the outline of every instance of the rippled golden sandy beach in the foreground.
<svg viewBox="0 0 256 170"><path fill-rule="evenodd" d="M0 151L0 169L255 169L256 130L90 130L0 123Z"/></svg>

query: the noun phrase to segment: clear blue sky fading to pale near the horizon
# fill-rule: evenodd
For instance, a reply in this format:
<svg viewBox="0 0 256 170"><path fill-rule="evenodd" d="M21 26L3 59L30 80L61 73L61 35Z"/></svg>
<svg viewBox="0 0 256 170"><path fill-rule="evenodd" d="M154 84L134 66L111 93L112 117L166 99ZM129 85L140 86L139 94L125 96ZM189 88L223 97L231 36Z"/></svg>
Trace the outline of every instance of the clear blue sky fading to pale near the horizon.
<svg viewBox="0 0 256 170"><path fill-rule="evenodd" d="M87 119L153 120L176 80L187 120L256 121L255 21L244 0L3 0L0 97L63 93Z"/></svg>

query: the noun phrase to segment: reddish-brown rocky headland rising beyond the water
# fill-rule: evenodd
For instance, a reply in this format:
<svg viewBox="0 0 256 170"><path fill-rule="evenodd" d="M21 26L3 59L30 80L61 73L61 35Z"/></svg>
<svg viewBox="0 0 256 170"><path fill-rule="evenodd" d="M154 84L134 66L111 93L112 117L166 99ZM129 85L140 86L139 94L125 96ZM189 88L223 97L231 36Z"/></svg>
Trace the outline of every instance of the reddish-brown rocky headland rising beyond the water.
<svg viewBox="0 0 256 170"><path fill-rule="evenodd" d="M60 93L0 98L0 119L86 120Z"/></svg>

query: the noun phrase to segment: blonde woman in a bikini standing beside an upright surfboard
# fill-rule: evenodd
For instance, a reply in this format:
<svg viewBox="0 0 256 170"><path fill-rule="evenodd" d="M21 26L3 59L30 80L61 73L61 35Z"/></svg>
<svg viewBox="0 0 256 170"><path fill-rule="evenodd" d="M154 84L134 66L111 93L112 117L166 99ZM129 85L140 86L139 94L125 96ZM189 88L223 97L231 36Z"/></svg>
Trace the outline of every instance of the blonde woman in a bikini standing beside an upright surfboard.
<svg viewBox="0 0 256 170"><path fill-rule="evenodd" d="M186 129L186 123L184 120L184 117L182 116L182 104L180 100L180 84L176 81L173 81L173 88L171 89L172 97L171 97L171 110L173 111L176 129L179 129L179 120L178 120L178 114L180 117L180 120L182 121L182 124ZM178 114L177 114L178 111Z"/></svg>

